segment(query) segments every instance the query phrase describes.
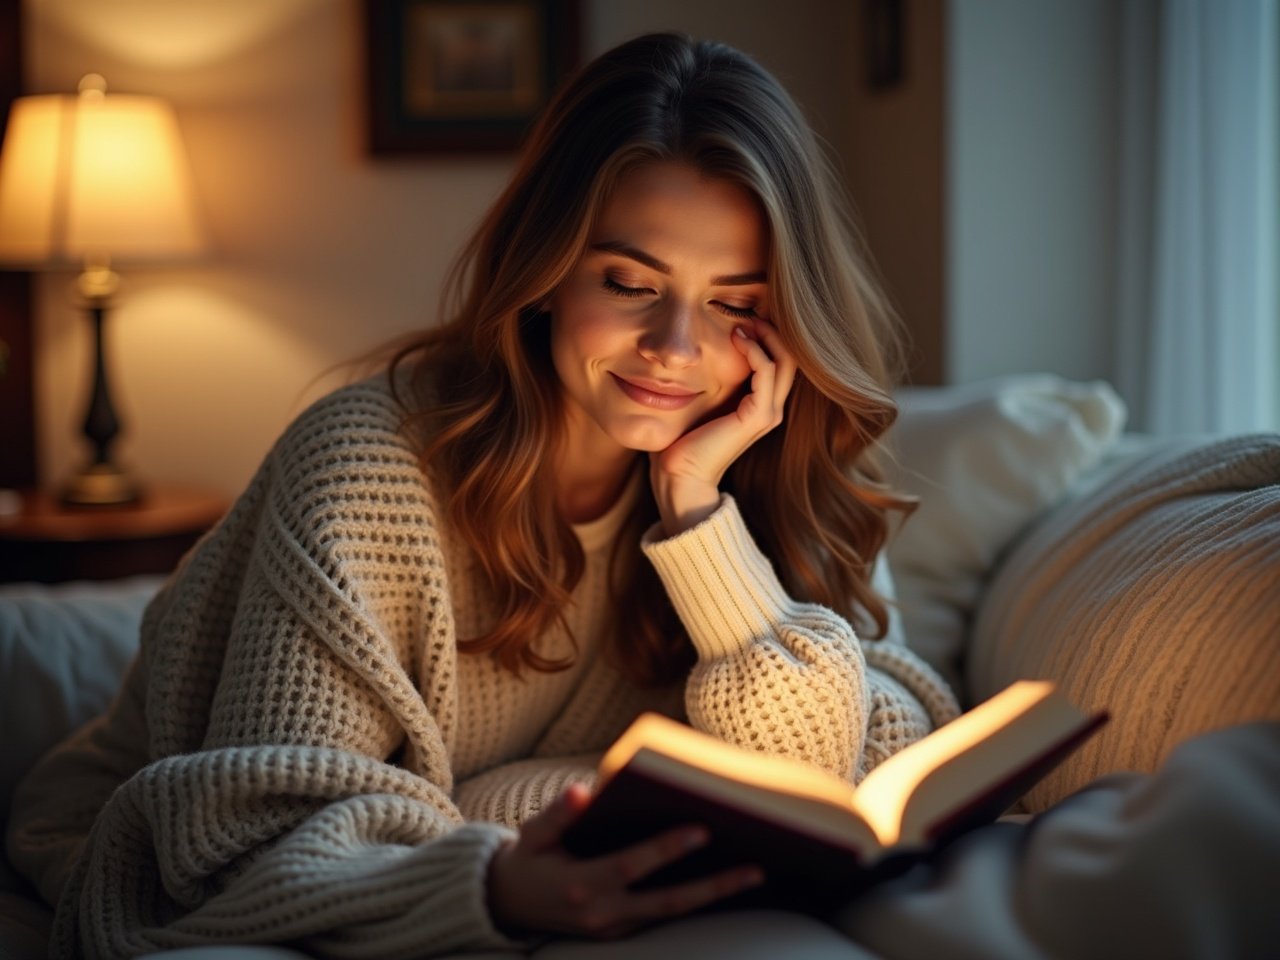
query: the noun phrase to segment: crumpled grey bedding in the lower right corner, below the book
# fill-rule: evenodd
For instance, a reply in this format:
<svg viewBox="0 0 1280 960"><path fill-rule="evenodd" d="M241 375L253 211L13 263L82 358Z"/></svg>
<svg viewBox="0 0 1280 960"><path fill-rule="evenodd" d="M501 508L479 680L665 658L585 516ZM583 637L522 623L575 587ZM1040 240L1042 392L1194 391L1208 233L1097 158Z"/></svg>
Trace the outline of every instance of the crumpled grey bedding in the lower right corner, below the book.
<svg viewBox="0 0 1280 960"><path fill-rule="evenodd" d="M1193 737L996 823L838 918L884 960L1274 960L1280 723Z"/></svg>

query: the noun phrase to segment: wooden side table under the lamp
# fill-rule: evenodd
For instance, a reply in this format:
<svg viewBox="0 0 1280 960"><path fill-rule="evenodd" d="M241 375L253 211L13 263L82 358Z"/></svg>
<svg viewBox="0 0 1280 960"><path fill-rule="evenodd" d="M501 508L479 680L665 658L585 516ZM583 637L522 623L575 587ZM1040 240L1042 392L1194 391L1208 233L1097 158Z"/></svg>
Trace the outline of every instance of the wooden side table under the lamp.
<svg viewBox="0 0 1280 960"><path fill-rule="evenodd" d="M207 490L163 484L122 507L68 507L44 490L19 495L17 512L0 513L0 582L168 573L229 506Z"/></svg>

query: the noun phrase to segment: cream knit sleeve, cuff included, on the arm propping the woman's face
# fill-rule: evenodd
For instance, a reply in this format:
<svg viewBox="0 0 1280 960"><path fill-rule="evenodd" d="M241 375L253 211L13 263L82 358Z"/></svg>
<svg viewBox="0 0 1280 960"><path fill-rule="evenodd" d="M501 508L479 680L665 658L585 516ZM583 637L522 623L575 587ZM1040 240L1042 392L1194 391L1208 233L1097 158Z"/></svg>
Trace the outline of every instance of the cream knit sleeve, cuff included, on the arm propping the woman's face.
<svg viewBox="0 0 1280 960"><path fill-rule="evenodd" d="M858 781L959 712L927 664L893 640L863 644L833 611L787 595L732 497L643 549L698 650L690 722Z"/></svg>

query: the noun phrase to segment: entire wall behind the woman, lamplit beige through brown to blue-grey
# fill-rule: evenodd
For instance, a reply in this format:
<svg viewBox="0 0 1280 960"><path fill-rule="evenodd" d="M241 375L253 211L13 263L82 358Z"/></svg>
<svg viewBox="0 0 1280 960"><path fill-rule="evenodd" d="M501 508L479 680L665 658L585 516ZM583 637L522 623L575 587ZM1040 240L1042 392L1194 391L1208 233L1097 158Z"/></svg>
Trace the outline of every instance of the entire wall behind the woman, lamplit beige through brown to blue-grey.
<svg viewBox="0 0 1280 960"><path fill-rule="evenodd" d="M776 0L584 0L584 46L685 29L777 73L836 150L931 349L946 317L945 364L924 380L1110 378L1108 0L908 0L908 84L874 99L859 86L859 6L790 0L778 17ZM145 477L232 494L335 383L326 370L431 323L449 257L509 160L362 155L356 0L92 10L26 0L28 90L67 92L97 70L115 90L169 97L212 243L198 265L125 275L109 329L119 452ZM88 332L69 280L36 289L44 483L84 456Z"/></svg>

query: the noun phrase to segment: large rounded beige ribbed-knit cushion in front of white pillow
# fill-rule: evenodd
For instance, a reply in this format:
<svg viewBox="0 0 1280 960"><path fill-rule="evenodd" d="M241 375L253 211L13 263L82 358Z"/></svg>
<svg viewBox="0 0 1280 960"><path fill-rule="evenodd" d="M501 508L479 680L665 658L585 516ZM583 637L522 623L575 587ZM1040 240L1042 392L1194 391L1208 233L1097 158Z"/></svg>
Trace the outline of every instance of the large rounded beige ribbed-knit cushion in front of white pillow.
<svg viewBox="0 0 1280 960"><path fill-rule="evenodd" d="M1190 736L1280 719L1280 434L1171 442L1053 511L984 595L966 663L984 699L1057 681L1111 722L1024 800L1153 771Z"/></svg>

